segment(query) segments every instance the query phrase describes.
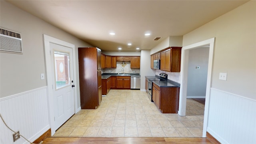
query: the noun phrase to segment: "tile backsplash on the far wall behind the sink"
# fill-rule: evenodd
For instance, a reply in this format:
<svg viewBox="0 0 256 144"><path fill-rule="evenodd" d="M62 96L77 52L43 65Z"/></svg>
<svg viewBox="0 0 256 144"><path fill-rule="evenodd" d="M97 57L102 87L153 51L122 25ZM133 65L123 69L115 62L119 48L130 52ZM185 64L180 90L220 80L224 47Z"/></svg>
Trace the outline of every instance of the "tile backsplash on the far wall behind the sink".
<svg viewBox="0 0 256 144"><path fill-rule="evenodd" d="M124 68L124 73L131 73L131 74L139 74L140 69L139 68L131 68L131 62L116 62L116 68L104 68L101 70L103 73L118 73L122 72L122 68Z"/></svg>

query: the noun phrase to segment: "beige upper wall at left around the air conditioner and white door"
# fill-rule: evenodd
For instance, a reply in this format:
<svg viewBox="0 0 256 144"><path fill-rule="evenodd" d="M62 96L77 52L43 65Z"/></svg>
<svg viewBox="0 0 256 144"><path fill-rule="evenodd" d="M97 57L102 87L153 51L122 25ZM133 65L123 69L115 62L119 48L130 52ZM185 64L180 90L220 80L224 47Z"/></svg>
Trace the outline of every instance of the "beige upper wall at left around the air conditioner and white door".
<svg viewBox="0 0 256 144"><path fill-rule="evenodd" d="M1 0L0 4L1 27L21 33L23 46L23 54L0 53L1 98L46 86L46 79L40 80L40 74L46 74L43 34L75 45L76 77L79 78L77 48L88 47L89 44L6 1Z"/></svg>

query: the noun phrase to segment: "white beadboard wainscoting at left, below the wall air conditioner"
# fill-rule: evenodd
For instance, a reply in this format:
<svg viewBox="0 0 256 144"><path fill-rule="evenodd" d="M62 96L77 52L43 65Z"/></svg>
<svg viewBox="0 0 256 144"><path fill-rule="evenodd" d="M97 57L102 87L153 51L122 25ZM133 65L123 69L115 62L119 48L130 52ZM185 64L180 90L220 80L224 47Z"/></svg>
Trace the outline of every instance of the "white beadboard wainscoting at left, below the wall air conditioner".
<svg viewBox="0 0 256 144"><path fill-rule="evenodd" d="M46 87L2 98L0 108L6 124L31 142L50 128ZM1 144L29 144L22 137L13 142L13 132L0 121Z"/></svg>

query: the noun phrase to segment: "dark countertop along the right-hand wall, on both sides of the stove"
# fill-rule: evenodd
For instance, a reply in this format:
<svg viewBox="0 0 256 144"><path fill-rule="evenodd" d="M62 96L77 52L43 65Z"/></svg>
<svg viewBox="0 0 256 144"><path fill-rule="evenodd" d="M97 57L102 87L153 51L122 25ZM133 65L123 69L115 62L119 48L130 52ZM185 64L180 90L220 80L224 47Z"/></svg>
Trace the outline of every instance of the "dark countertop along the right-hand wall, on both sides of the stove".
<svg viewBox="0 0 256 144"><path fill-rule="evenodd" d="M145 76L146 79L148 78L159 78L159 76ZM160 87L180 87L180 84L178 82L174 82L172 80L167 81L160 81L160 80L154 80L152 81L154 84L160 86Z"/></svg>

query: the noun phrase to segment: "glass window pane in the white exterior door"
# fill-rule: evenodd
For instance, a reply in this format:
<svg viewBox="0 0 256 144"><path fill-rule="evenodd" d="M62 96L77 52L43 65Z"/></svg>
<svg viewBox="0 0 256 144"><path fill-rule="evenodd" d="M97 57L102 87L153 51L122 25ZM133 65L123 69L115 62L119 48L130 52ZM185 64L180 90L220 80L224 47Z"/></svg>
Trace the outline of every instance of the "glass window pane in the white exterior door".
<svg viewBox="0 0 256 144"><path fill-rule="evenodd" d="M56 89L70 85L69 53L54 51Z"/></svg>

